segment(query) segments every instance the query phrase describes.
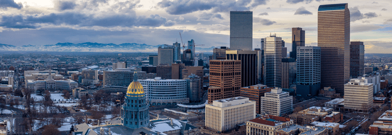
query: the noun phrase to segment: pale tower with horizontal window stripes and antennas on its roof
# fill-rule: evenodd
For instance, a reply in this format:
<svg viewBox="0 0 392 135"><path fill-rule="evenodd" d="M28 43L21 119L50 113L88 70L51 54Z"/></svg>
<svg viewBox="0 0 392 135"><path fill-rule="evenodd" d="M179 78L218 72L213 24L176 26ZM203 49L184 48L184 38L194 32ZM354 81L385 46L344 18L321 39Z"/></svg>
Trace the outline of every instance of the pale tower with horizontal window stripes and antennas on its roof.
<svg viewBox="0 0 392 135"><path fill-rule="evenodd" d="M282 38L264 38L263 83L268 87L282 86Z"/></svg>

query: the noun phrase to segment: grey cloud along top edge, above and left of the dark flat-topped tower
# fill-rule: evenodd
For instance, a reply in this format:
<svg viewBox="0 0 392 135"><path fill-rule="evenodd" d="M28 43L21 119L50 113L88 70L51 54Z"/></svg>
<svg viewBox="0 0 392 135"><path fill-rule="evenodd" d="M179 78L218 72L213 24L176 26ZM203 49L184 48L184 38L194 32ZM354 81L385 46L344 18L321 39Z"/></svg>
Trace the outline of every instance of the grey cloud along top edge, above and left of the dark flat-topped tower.
<svg viewBox="0 0 392 135"><path fill-rule="evenodd" d="M233 10L249 10L250 8L265 5L269 0L218 0L218 1L201 1L201 0L175 0L170 2L163 0L158 3L158 7L165 8L166 12L171 15L181 15L195 11L204 11L213 9L214 12L227 12ZM251 5L250 5L251 4ZM249 6L250 5L250 6Z"/></svg>

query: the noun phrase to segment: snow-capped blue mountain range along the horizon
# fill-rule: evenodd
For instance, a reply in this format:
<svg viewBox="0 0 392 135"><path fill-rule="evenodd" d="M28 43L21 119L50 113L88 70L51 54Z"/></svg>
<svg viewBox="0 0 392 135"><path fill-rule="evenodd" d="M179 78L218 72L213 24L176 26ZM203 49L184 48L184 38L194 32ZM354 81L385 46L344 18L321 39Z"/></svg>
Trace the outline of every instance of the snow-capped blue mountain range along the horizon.
<svg viewBox="0 0 392 135"><path fill-rule="evenodd" d="M57 43L53 45L23 45L14 46L0 44L0 50L8 51L62 51L62 52L157 52L160 45L138 43L102 44L102 43ZM209 48L196 47L196 52L212 52L214 46ZM181 48L182 49L182 48ZM182 51L182 50L181 50Z"/></svg>

